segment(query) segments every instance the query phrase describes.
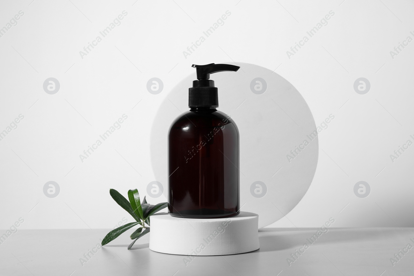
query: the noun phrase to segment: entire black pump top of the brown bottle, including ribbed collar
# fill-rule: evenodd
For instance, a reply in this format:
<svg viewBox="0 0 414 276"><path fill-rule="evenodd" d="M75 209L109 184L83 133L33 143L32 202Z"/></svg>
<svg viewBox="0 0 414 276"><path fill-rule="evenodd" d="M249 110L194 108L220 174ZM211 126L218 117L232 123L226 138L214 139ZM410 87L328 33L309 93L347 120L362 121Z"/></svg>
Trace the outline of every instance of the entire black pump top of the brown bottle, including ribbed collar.
<svg viewBox="0 0 414 276"><path fill-rule="evenodd" d="M188 107L219 107L218 89L214 87L214 80L209 79L210 74L224 71L237 72L240 68L230 64L206 64L195 65L197 80L193 81L193 87L188 89Z"/></svg>

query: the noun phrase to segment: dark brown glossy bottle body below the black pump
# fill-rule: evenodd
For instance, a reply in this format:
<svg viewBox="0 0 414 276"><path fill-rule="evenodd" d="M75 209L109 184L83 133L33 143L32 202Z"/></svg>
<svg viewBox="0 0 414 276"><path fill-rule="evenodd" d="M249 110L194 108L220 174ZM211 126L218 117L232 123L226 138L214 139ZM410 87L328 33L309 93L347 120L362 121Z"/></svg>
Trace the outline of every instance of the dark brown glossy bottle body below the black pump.
<svg viewBox="0 0 414 276"><path fill-rule="evenodd" d="M240 212L239 133L216 108L192 108L168 136L168 213L221 218Z"/></svg>

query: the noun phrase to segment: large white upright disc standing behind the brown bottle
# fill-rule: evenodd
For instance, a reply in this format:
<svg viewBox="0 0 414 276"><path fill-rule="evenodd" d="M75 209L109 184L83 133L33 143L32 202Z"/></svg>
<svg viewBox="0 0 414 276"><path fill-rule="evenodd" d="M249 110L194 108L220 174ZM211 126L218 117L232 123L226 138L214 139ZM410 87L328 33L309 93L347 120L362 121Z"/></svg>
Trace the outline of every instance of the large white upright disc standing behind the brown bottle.
<svg viewBox="0 0 414 276"><path fill-rule="evenodd" d="M286 79L257 65L229 64L241 68L210 77L219 90L217 109L230 115L240 132L241 211L258 214L261 228L289 213L308 190L318 163L318 137L310 136L316 125L305 100ZM152 125L151 162L155 180L164 187L168 130L189 110L188 88L194 79L195 70L168 92Z"/></svg>

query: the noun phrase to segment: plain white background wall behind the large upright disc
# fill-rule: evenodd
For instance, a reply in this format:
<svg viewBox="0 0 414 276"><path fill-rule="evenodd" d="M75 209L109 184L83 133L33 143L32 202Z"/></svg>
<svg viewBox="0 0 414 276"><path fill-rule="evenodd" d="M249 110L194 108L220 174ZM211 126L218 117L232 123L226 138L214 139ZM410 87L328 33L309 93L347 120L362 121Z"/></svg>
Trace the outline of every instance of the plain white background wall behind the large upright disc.
<svg viewBox="0 0 414 276"><path fill-rule="evenodd" d="M414 142L414 42L390 55L414 38L412 2L174 1L0 3L0 27L24 12L0 37L0 130L24 115L0 141L0 228L19 217L21 228L112 228L123 217L131 221L108 190L126 194L136 187L145 194L156 180L149 133L157 108L194 73L193 63L232 60L277 68L317 125L335 114L319 136L312 185L273 227L320 226L330 217L335 227L414 226L414 146L390 159L398 146ZM120 26L82 59L79 51L123 10L128 15ZM185 58L183 51L227 10L225 24ZM286 51L331 10L335 16L289 59ZM60 82L54 95L43 91L49 77ZM146 89L152 77L164 82L158 95ZM371 83L368 94L354 91L359 77ZM79 154L124 113L122 127L82 163ZM360 180L371 186L363 199L353 192ZM58 197L43 194L48 181L59 184Z"/></svg>

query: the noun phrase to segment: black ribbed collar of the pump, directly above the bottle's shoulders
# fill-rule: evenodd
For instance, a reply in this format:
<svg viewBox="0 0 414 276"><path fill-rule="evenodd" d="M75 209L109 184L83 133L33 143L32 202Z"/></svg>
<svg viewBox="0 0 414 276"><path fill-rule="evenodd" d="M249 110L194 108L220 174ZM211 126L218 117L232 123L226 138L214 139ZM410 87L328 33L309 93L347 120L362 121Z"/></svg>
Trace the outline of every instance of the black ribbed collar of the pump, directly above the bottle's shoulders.
<svg viewBox="0 0 414 276"><path fill-rule="evenodd" d="M190 87L188 89L188 107L219 107L217 87Z"/></svg>

